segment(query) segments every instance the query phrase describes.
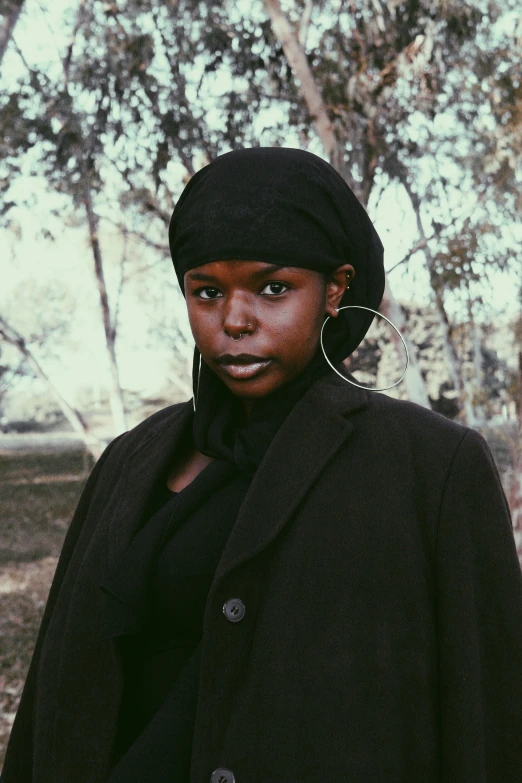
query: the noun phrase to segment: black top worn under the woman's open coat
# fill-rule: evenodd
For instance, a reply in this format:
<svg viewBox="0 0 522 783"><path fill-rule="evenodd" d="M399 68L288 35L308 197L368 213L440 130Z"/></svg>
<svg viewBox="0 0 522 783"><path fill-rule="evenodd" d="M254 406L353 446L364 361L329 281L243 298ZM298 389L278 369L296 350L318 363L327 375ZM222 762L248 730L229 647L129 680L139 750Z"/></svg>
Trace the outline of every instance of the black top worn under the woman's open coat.
<svg viewBox="0 0 522 783"><path fill-rule="evenodd" d="M223 477L225 466L216 460L200 476L208 479L214 472ZM116 587L117 580L126 581L130 593L142 594L141 562L151 560L147 552L157 552L145 581L141 626L137 632L129 626L115 638L124 691L110 783L189 780L205 604L249 484L230 466L228 480L221 479L207 498L198 492L199 481L198 476L173 492L162 477L150 498L148 519L112 575ZM187 502L190 495L200 496L196 508ZM190 509L185 516L182 501ZM174 531L168 524L173 518L178 521Z"/></svg>

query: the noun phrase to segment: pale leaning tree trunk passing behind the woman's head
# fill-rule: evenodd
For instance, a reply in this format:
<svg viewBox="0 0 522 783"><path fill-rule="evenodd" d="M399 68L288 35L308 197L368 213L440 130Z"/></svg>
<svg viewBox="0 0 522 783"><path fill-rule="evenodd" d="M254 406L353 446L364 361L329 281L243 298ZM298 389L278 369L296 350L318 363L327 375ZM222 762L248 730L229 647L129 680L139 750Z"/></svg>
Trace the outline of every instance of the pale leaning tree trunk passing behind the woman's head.
<svg viewBox="0 0 522 783"><path fill-rule="evenodd" d="M306 103L308 112L313 118L313 124L319 139L323 145L323 149L328 156L332 166L341 174L341 176L348 180L346 164L342 155L341 145L336 140L334 129L328 112L324 104L322 95L317 87L314 76L308 65L303 46L297 40L288 19L281 10L279 0L264 0L266 11L272 22L272 30L274 35L280 42L285 56L288 60L288 64L292 70L292 73L299 83L299 90ZM308 25L309 20L306 22ZM355 146L355 145L354 145ZM350 182L351 184L351 182ZM359 200L366 206L368 202L368 196L371 190L371 182L369 176L363 183L363 186L355 188L352 186ZM391 321L402 332L406 325L406 320L402 312L402 308L394 298L389 286L385 289L385 295L383 299L383 307L386 308L387 313L392 313L393 317L387 315ZM400 337L397 335L394 329L393 339L397 345L397 350L400 352L402 358L404 357L404 347ZM406 340L406 336L404 335ZM411 341L407 341L408 352L410 355L410 364L408 372L405 376L405 383L408 389L408 397L412 402L417 402L419 405L423 405L426 408L430 408L429 398L426 392L426 386L420 373L417 352L415 346Z"/></svg>

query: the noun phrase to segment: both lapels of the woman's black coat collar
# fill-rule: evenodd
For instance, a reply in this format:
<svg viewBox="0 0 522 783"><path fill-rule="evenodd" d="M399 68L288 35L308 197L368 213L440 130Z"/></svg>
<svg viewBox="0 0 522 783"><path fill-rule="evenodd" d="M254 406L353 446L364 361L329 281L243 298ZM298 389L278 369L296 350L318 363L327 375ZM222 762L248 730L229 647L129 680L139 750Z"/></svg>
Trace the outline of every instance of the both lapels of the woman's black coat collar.
<svg viewBox="0 0 522 783"><path fill-rule="evenodd" d="M344 365L337 366L355 381ZM348 384L333 371L305 392L276 433L252 479L213 586L275 538L352 432L353 424L346 417L367 407L368 397L368 391ZM166 475L176 452L190 440L192 421L192 400L176 406L170 416L150 429L124 464L122 490L110 521L108 568L115 566L139 530L154 484L159 475Z"/></svg>

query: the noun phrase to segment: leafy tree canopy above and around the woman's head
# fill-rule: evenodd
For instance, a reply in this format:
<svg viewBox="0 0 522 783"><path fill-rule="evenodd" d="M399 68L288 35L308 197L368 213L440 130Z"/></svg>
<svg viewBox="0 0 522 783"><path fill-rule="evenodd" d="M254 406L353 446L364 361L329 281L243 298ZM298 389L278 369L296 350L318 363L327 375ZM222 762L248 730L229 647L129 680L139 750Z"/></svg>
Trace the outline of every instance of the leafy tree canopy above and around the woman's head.
<svg viewBox="0 0 522 783"><path fill-rule="evenodd" d="M304 5L283 6L296 31ZM327 0L314 5L306 35L341 173L365 203L403 184L431 285L472 312L489 270L507 270L515 257L504 227L520 209L516 8ZM88 185L102 220L142 241L149 259L164 256L171 210L199 166L242 146L319 151L261 0L86 0L71 2L64 25L71 35L59 67L28 59L0 96L4 224L30 159L73 210ZM133 263L128 277L137 271Z"/></svg>

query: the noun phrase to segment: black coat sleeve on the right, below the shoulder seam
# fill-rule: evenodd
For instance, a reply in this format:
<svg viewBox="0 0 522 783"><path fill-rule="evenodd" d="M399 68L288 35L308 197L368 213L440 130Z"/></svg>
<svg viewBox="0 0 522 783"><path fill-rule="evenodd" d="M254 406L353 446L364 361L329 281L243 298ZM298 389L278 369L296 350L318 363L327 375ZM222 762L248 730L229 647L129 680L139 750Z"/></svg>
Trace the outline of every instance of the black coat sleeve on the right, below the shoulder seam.
<svg viewBox="0 0 522 783"><path fill-rule="evenodd" d="M486 440L468 430L436 544L441 783L522 781L522 573Z"/></svg>

